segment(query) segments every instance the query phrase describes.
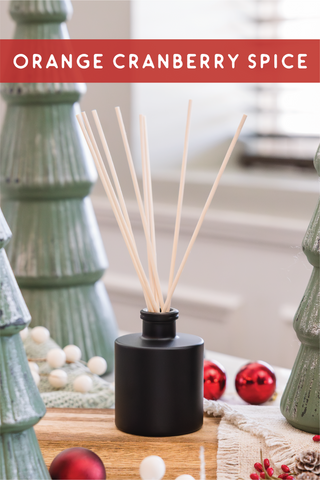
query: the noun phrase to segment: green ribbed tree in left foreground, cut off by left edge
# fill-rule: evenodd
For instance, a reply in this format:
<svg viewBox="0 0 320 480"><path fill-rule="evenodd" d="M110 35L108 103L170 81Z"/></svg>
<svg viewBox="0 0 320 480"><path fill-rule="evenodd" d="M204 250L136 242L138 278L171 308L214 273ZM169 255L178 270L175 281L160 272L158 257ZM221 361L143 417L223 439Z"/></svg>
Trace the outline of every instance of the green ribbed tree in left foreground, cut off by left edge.
<svg viewBox="0 0 320 480"><path fill-rule="evenodd" d="M46 413L20 338L31 320L4 246L11 231L0 210L0 479L50 479L33 425Z"/></svg>

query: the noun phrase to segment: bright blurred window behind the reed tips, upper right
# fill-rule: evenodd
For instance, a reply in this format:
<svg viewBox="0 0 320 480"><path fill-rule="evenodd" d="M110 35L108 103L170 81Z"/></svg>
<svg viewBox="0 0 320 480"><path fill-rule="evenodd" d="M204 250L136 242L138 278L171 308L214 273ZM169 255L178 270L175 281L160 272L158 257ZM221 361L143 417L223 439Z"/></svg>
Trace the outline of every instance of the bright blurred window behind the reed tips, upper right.
<svg viewBox="0 0 320 480"><path fill-rule="evenodd" d="M131 25L132 38L318 38L320 3L136 0ZM190 167L215 168L220 156L214 153L232 135L243 112L249 114L245 133L251 160L262 156L299 164L309 159L311 164L320 132L319 84L133 84L136 158L137 118L143 112L153 169L179 168L189 98L194 100Z"/></svg>

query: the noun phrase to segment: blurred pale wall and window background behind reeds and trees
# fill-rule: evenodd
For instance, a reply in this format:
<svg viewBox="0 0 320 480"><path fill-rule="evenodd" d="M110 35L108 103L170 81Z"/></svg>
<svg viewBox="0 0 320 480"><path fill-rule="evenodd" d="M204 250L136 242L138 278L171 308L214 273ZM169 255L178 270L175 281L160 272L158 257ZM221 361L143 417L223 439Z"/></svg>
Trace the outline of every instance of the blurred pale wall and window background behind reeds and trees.
<svg viewBox="0 0 320 480"><path fill-rule="evenodd" d="M319 38L320 4L305 0L74 0L71 38ZM0 35L12 38L9 2ZM179 330L206 348L291 367L292 320L311 266L301 242L319 197L319 84L89 84L146 258L114 107L120 106L141 172L139 114L147 115L160 278L169 276L188 100L193 99L182 258L242 113L248 120L178 284ZM5 103L0 102L2 125ZM104 280L119 327L140 331L141 288L98 182L92 201L109 269Z"/></svg>

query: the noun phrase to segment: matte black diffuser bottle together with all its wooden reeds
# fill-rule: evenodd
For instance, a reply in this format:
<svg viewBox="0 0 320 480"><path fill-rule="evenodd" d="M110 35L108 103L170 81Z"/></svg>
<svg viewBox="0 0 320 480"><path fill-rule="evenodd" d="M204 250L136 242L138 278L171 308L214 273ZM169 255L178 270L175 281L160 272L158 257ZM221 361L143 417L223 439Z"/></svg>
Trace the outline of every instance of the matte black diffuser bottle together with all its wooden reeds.
<svg viewBox="0 0 320 480"><path fill-rule="evenodd" d="M173 308L170 311L168 309L170 308L172 296L180 275L217 190L220 178L240 135L246 115L243 115L235 136L230 143L180 267L174 276L188 153L191 105L192 102L190 100L171 256L169 288L165 301L161 292L157 268L146 118L140 115L143 202L121 111L119 107L116 108L146 240L150 271L149 279L139 258L127 207L99 116L96 111L93 112L115 189L105 168L87 115L85 112L77 115L80 128L95 161L102 184L138 274L148 307L146 310L141 310L142 334L124 335L115 341L116 426L123 432L135 435L150 437L183 435L199 430L203 421L203 340L194 335L177 335L176 320L179 313ZM160 309L164 313L160 313Z"/></svg>

